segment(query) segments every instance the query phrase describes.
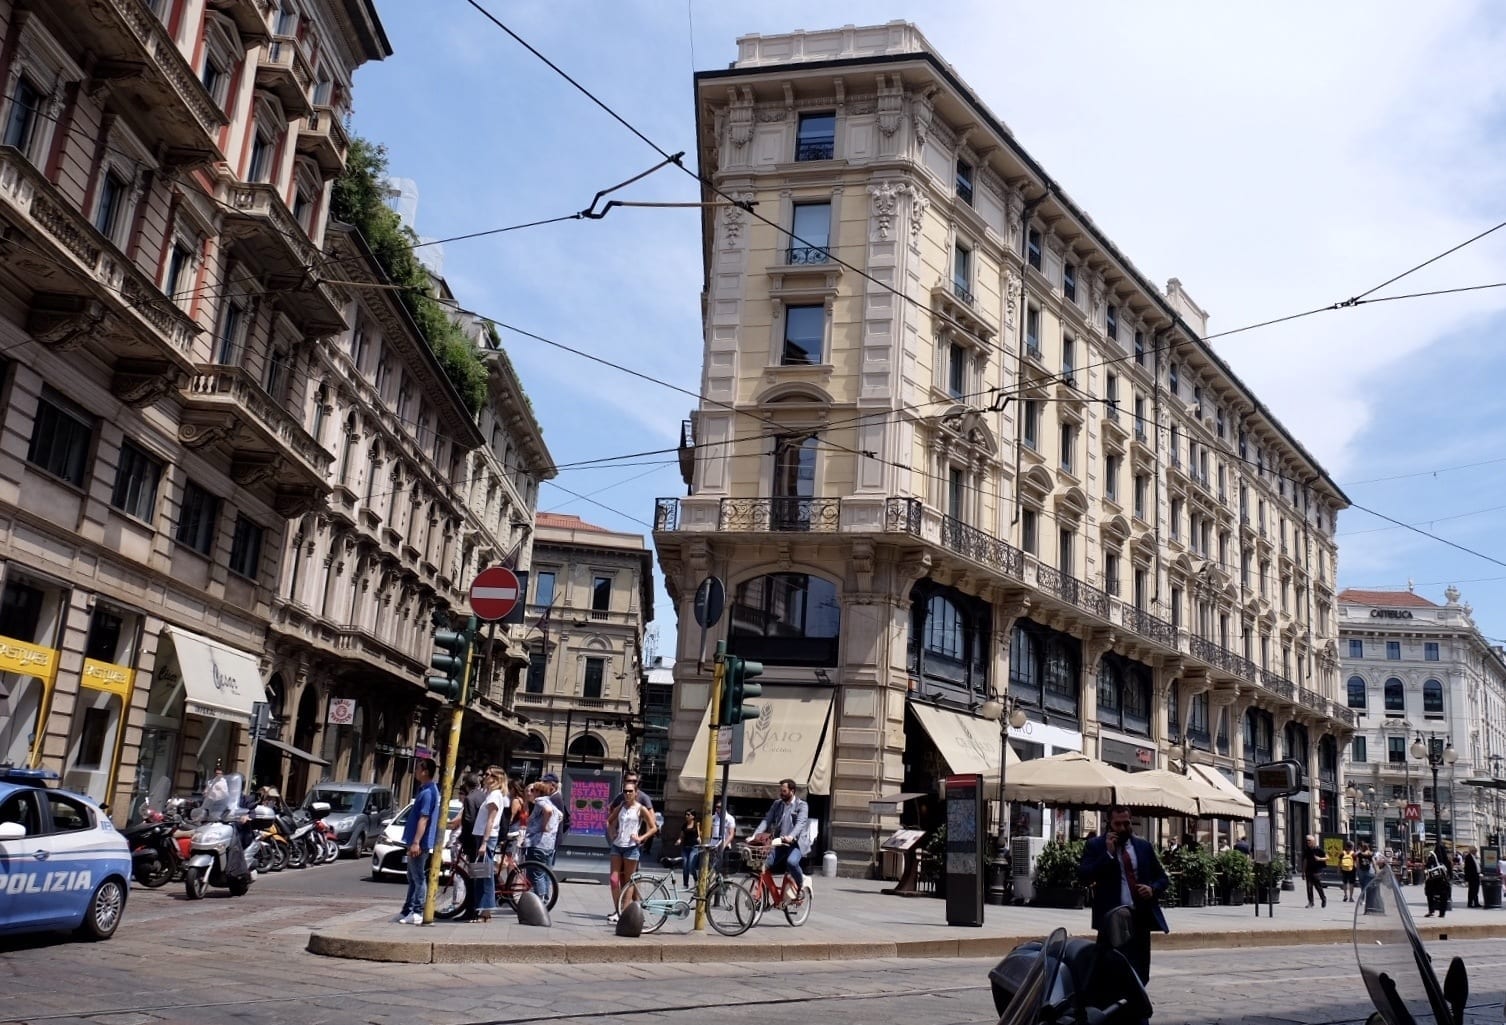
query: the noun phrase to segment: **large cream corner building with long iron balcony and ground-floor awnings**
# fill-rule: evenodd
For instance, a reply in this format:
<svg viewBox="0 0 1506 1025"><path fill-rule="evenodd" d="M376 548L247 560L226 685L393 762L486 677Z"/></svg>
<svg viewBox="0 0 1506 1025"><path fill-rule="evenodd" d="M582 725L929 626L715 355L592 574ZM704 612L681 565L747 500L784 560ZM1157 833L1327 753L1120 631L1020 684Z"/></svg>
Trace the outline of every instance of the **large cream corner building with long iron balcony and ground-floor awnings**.
<svg viewBox="0 0 1506 1025"><path fill-rule="evenodd" d="M717 575L711 641L767 667L730 796L795 777L846 868L896 822L870 801L997 780L995 694L1027 712L1021 757L1149 768L1185 742L1250 786L1291 754L1312 792L1285 832L1336 825L1348 503L1182 286L1152 286L911 24L745 36L696 75L696 117L738 202L705 194L705 399L688 495L655 519L681 793L709 695L687 625Z"/></svg>

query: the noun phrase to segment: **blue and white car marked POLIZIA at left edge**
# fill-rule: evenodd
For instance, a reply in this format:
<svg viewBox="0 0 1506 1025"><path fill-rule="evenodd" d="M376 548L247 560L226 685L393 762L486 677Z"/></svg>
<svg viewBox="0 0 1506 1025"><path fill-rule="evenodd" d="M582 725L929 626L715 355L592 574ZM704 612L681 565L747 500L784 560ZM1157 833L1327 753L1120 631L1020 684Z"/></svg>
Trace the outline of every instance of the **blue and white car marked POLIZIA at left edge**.
<svg viewBox="0 0 1506 1025"><path fill-rule="evenodd" d="M89 798L47 787L56 772L0 766L0 935L120 924L131 846Z"/></svg>

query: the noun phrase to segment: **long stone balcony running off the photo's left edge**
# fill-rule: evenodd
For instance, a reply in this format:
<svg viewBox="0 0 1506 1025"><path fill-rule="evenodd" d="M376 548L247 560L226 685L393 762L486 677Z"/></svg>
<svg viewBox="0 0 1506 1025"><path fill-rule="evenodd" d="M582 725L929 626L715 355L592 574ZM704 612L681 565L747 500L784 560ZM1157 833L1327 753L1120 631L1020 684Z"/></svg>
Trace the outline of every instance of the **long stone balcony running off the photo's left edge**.
<svg viewBox="0 0 1506 1025"><path fill-rule="evenodd" d="M160 355L187 369L196 325L178 304L163 295L146 274L72 206L57 200L57 191L17 149L0 146L0 209L50 250L60 266L72 266L110 310L155 343ZM21 263L11 257L12 266ZM56 271L54 271L56 272ZM51 287L60 281L51 278Z"/></svg>

